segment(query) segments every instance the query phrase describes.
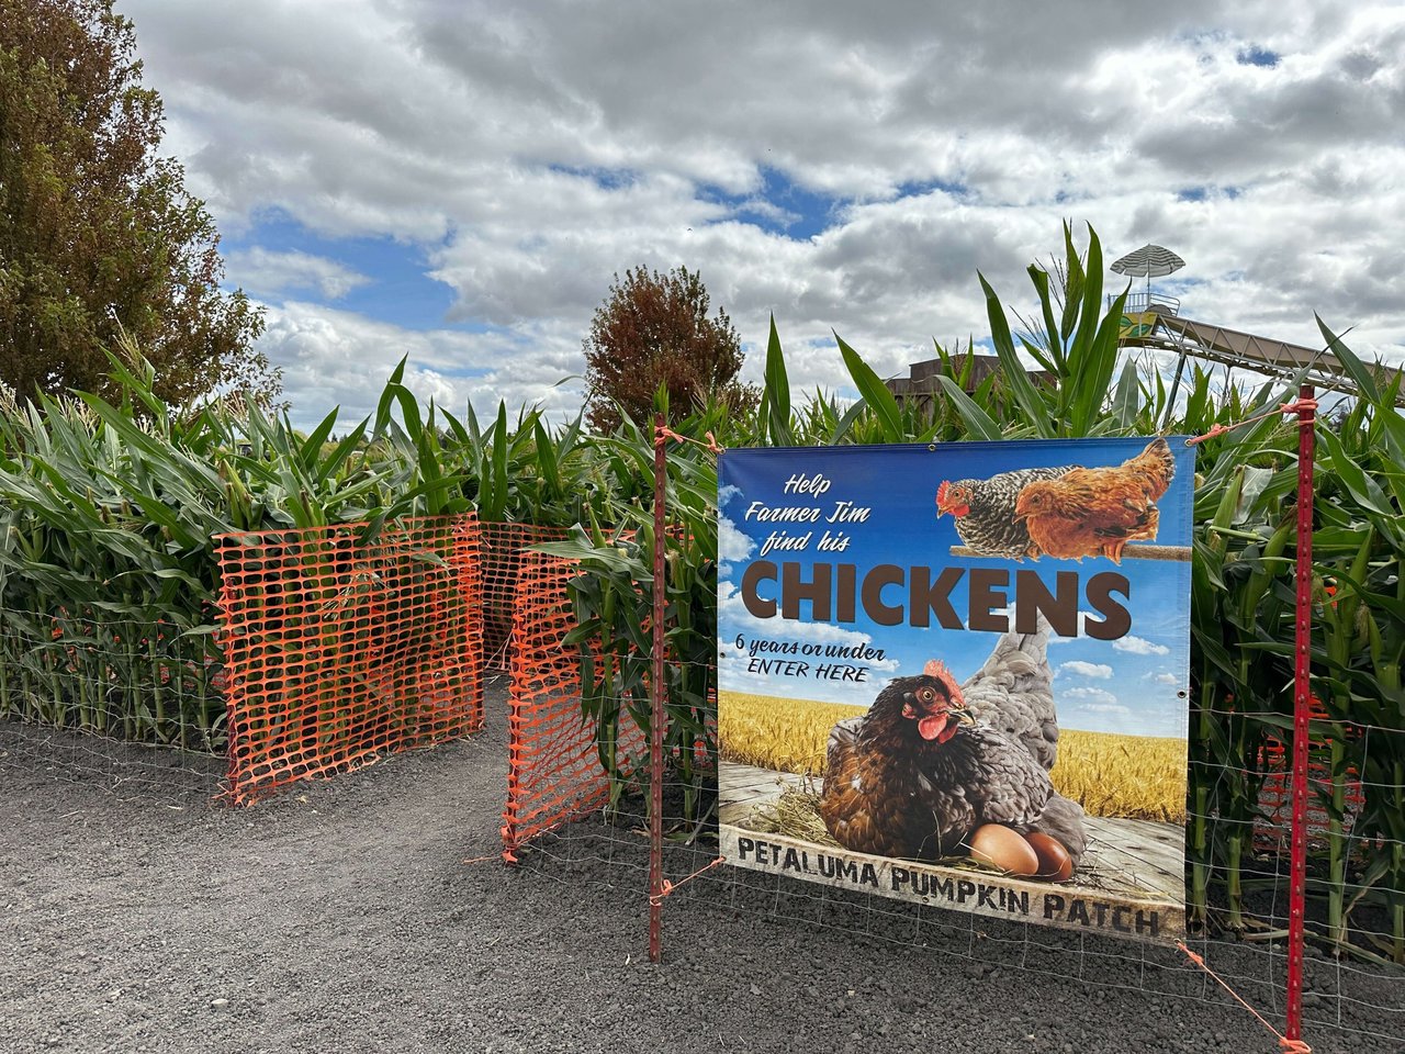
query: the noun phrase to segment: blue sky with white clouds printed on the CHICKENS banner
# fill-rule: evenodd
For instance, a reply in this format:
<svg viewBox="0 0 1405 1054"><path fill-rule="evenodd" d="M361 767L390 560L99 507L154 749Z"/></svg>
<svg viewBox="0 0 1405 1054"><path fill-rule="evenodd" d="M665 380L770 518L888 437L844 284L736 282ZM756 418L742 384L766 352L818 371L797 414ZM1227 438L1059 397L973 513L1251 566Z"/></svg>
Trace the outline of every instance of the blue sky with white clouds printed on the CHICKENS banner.
<svg viewBox="0 0 1405 1054"><path fill-rule="evenodd" d="M941 659L958 680L965 680L981 668L999 634L971 630L947 630L936 624L913 627L905 620L899 625L878 625L868 618L861 604L856 604L856 618L840 623L816 621L808 601L799 606L799 620L763 618L752 614L742 597L742 576L756 559L776 564L798 562L801 580L813 580L813 565L854 564L857 579L877 564L899 568L926 566L939 575L947 566L998 568L1007 572L1012 583L1005 593L1014 603L1014 571L1038 572L1047 585L1055 583L1058 572L1076 572L1080 590L1099 572L1124 575L1130 585L1131 630L1117 639L1100 641L1086 634L1087 621L1102 623L1102 613L1090 611L1085 599L1080 604L1082 632L1078 637L1051 637L1050 665L1054 670L1054 690L1059 710L1059 724L1100 732L1135 735L1184 736L1190 662L1190 565L1177 561L1124 559L1114 565L1104 558L1072 559L1041 558L1013 562L992 558L953 557L950 548L960 545L951 517L937 517L936 492L943 479L984 479L996 472L1035 465L1116 465L1132 457L1145 440L1082 440L1069 443L971 443L927 447L839 447L802 448L785 451L728 451L719 471L719 628L718 684L724 690L812 698L826 703L867 705L892 677L922 672L929 659ZM1172 441L1176 453L1176 479L1172 489L1158 503L1161 545L1190 544L1190 479L1194 474L1194 454L1183 441ZM787 481L816 474L830 483L821 495L797 489L787 492ZM818 489L818 488L816 488ZM840 506L839 503L849 503ZM777 524L763 520L756 506L819 507L821 523L808 526ZM836 516L833 523L828 520ZM871 513L854 523L844 514L868 509ZM747 513L753 513L749 516ZM813 530L809 544L801 549L764 552L769 537L804 535ZM849 542L843 551L825 552L818 548L822 535L843 533ZM837 576L837 572L835 572ZM969 621L969 573L950 593L951 607L962 623ZM777 600L776 582L764 582L757 590L767 600ZM882 599L888 604L906 603L905 587L887 586ZM1080 593L1082 594L1082 593ZM1118 600L1121 600L1118 597ZM837 609L836 609L837 610ZM1002 609L996 609L1002 610ZM833 614L833 611L832 611ZM738 637L745 644L738 648ZM753 662L753 641L773 641L787 645L864 645L882 649L880 661L856 661L868 668L867 680L844 683L816 677L823 659L812 659L799 672L797 666ZM776 653L760 652L760 658ZM781 652L778 658L795 659Z"/></svg>

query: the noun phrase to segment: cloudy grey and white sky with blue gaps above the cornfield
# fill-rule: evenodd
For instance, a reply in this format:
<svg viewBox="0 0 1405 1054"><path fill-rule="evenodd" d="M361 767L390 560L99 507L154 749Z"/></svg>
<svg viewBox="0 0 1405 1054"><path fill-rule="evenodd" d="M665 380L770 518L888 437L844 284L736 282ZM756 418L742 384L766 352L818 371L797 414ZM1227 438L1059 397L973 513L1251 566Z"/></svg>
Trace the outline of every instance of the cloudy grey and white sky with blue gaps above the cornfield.
<svg viewBox="0 0 1405 1054"><path fill-rule="evenodd" d="M1179 253L1190 318L1405 358L1401 4L117 7L303 423L402 356L450 408L573 412L638 264L843 392L832 330L884 375L979 341L976 270L1027 309L1064 219Z"/></svg>

